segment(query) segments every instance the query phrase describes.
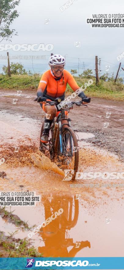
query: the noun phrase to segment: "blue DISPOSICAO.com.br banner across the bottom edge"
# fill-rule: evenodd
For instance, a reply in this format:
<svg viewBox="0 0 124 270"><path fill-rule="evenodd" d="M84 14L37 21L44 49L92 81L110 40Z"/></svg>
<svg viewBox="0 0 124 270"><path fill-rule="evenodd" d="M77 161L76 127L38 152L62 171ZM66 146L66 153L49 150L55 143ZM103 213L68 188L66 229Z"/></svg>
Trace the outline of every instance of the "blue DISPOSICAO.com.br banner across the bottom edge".
<svg viewBox="0 0 124 270"><path fill-rule="evenodd" d="M124 269L124 257L0 258L0 270Z"/></svg>

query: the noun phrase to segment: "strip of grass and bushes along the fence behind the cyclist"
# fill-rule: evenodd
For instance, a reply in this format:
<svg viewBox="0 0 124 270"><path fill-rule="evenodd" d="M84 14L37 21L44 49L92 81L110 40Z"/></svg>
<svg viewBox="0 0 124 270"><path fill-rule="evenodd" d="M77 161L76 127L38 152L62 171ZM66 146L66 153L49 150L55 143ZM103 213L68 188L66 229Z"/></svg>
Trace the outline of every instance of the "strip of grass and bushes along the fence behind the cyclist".
<svg viewBox="0 0 124 270"><path fill-rule="evenodd" d="M3 67L4 74L0 74L0 88L4 89L20 89L31 90L37 89L42 74L32 74L31 71L26 71L23 65L19 63L10 66L11 77L7 75L7 67ZM93 80L93 84L85 90L86 95L90 97L106 98L112 100L124 100L124 84L123 79L118 77L114 83L114 74L105 73L100 76L99 84L96 85L96 78L93 76L92 70L84 70L82 74L75 76L77 70L71 70L79 87L84 88L84 83L88 83L89 79ZM66 94L69 95L73 92L71 87L67 84Z"/></svg>

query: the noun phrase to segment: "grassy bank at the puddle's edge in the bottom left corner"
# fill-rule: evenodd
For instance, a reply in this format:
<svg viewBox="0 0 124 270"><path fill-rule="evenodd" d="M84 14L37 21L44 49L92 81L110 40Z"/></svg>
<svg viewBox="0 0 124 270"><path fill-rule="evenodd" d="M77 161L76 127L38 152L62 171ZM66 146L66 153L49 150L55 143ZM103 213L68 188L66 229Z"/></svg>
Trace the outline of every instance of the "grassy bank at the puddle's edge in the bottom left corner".
<svg viewBox="0 0 124 270"><path fill-rule="evenodd" d="M6 236L4 232L0 231L0 257L41 257L41 254L31 245L31 240L14 237L18 231L31 230L35 225L29 227L27 222L22 221L13 212L8 212L5 207L0 207L0 216L6 224L14 224L16 230L14 233L9 233L9 236ZM19 244L18 249L15 249L15 243Z"/></svg>

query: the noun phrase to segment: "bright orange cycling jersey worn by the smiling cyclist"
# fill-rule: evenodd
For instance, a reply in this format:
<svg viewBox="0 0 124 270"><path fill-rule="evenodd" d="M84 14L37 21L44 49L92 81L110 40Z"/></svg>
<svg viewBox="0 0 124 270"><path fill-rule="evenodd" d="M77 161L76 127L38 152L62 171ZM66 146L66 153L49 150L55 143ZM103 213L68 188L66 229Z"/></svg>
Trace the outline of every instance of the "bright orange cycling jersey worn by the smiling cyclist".
<svg viewBox="0 0 124 270"><path fill-rule="evenodd" d="M67 70L64 70L63 74L64 83L63 76L61 77L61 79L58 79L54 76L52 70L48 70L42 75L38 89L42 89L43 97L48 97L51 100L60 97L61 100L64 100L64 93L67 83L70 85L73 91L76 91L79 88L78 84L75 82L75 79Z"/></svg>

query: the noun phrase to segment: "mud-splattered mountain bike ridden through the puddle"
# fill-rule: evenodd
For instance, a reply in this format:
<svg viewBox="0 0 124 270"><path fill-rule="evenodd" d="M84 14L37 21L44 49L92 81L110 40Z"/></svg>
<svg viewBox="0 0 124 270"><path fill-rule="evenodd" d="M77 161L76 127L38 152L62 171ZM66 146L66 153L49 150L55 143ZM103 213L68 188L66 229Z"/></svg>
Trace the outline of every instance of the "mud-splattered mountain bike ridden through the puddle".
<svg viewBox="0 0 124 270"><path fill-rule="evenodd" d="M39 98L35 98L35 101L37 101L37 99ZM62 104L62 108L59 110L59 115L53 119L49 131L48 143L42 143L40 140L39 150L52 161L56 162L58 167L63 170L69 170L67 174L68 176L71 174L72 180L74 180L75 174L78 171L78 141L75 132L71 128L71 119L67 118L65 111L68 113L74 106L87 105L82 104L82 101L62 101L61 103L60 101L60 98L56 98L55 101L47 101L50 106ZM63 124L63 120L67 120L67 123ZM43 129L44 122L42 123L40 138L42 136Z"/></svg>

